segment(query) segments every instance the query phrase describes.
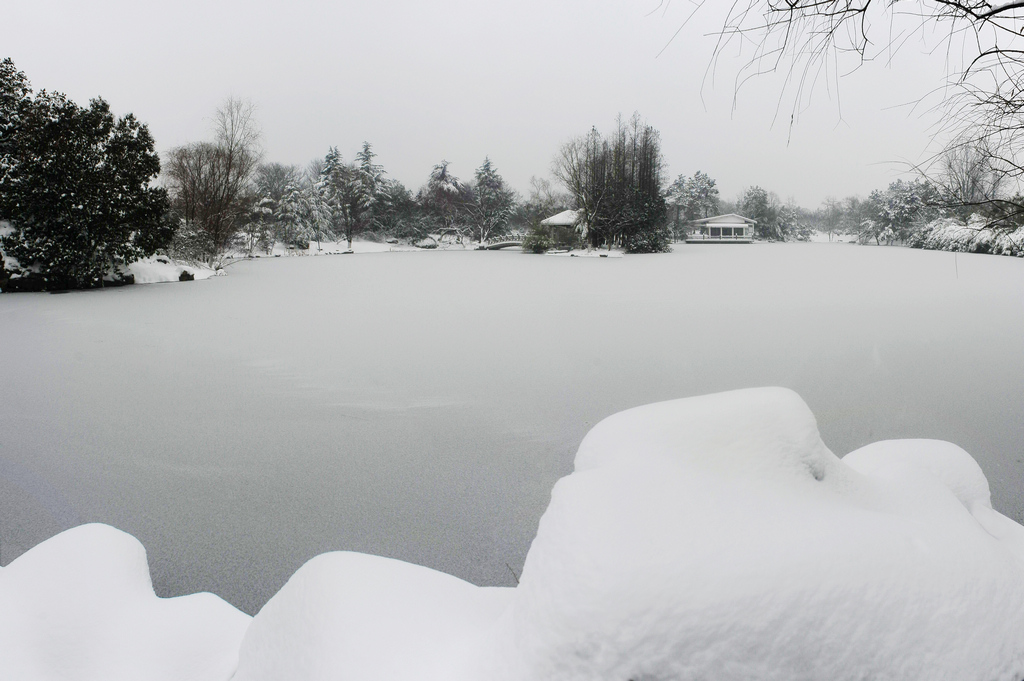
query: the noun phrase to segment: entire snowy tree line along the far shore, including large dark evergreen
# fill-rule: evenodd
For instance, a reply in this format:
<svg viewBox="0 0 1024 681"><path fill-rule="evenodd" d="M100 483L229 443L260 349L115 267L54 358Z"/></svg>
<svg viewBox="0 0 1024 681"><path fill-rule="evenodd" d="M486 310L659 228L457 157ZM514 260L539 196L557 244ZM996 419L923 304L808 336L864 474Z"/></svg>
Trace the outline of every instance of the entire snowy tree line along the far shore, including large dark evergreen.
<svg viewBox="0 0 1024 681"><path fill-rule="evenodd" d="M59 93L34 93L7 58L0 62L0 287L13 280L37 289L105 286L157 252L217 265L225 254L275 244L305 249L337 240L351 249L360 237L430 247L514 232L534 252L662 252L694 220L728 212L754 219L761 240L807 239L817 229L927 247L944 247L928 226L940 218L947 231L950 220L1001 233L1024 223L1024 198L1011 191L1016 184L986 142L949 147L940 161L914 180L866 199L827 199L816 210L761 186L726 201L700 171L667 183L660 135L634 114L620 116L608 134L592 128L558 150L552 173L561 187L532 178L522 197L484 158L468 181L440 161L413 193L388 176L370 142L350 161L333 146L305 167L265 162L254 107L232 98L215 113L212 139L171 150L161 172L144 124L116 118L102 99L79 107ZM571 224L542 224L567 209ZM955 239L956 248L992 248L991 240Z"/></svg>

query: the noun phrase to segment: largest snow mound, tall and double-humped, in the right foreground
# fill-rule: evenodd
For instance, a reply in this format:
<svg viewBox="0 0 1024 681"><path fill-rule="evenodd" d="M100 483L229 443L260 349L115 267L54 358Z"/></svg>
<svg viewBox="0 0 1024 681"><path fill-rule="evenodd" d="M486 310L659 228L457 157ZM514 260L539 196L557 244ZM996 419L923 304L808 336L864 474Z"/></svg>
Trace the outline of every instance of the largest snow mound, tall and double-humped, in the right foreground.
<svg viewBox="0 0 1024 681"><path fill-rule="evenodd" d="M1020 679L1024 527L954 449L845 463L780 388L614 415L466 678Z"/></svg>

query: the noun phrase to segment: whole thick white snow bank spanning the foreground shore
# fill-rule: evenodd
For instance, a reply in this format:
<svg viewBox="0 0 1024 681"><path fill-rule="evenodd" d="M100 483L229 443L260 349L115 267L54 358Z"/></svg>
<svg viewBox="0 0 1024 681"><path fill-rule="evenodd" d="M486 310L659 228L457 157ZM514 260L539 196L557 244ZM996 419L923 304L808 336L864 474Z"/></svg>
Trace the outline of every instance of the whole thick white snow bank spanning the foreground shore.
<svg viewBox="0 0 1024 681"><path fill-rule="evenodd" d="M970 455L890 440L840 460L781 388L595 426L515 589L325 554L256 615L241 649L245 623L220 603L206 601L197 626L182 624L196 610L158 611L141 550L121 535L81 547L93 577L44 593L69 579L70 535L0 571L0 665L18 678L126 678L125 650L154 665L145 678L218 678L238 653L236 681L1024 678L1024 527L992 510ZM89 558L115 549L135 556L131 580ZM65 577L45 577L54 570ZM91 582L108 586L82 600ZM112 602L150 609L112 618ZM92 626L40 624L51 622ZM60 676L50 661L61 659L113 672ZM188 659L210 675L161 667Z"/></svg>

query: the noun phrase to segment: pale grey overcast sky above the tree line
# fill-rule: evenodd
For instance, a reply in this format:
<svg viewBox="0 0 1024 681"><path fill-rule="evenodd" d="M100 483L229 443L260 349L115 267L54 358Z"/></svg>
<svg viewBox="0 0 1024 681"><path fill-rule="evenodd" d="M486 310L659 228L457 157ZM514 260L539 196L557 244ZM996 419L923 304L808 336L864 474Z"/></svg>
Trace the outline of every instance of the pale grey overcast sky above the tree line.
<svg viewBox="0 0 1024 681"><path fill-rule="evenodd" d="M791 135L787 104L773 124L778 78L744 86L733 111L736 50L701 93L708 34L731 4L711 1L670 44L689 3L0 0L0 56L36 89L134 113L161 151L209 137L234 95L258 105L267 161L305 164L330 145L351 159L369 140L414 191L441 159L469 178L486 155L525 193L567 138L634 111L662 132L670 178L703 170L730 199L760 184L813 208L923 158L933 121L900 104L941 84L941 55L911 44L838 96L818 87Z"/></svg>

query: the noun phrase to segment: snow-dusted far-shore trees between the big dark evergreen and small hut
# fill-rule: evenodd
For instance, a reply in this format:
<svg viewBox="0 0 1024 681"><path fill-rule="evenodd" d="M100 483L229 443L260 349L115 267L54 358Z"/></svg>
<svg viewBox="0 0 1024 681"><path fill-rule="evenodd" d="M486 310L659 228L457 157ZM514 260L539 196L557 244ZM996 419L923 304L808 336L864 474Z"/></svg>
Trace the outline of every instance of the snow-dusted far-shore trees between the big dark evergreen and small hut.
<svg viewBox="0 0 1024 681"><path fill-rule="evenodd" d="M184 257L213 263L232 248L251 255L336 240L350 249L362 236L485 242L516 222L522 203L489 158L468 182L441 161L414 195L387 176L370 142L351 161L332 146L305 168L262 163L252 104L228 99L215 120L213 141L168 155L171 249Z"/></svg>

